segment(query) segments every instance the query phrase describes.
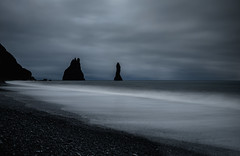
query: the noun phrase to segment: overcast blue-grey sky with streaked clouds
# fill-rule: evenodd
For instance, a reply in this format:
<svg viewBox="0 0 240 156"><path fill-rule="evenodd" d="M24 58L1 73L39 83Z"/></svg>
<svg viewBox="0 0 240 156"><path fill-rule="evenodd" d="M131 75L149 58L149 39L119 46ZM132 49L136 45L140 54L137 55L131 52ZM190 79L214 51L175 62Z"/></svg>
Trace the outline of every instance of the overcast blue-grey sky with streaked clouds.
<svg viewBox="0 0 240 156"><path fill-rule="evenodd" d="M0 43L36 79L240 80L239 0L1 0Z"/></svg>

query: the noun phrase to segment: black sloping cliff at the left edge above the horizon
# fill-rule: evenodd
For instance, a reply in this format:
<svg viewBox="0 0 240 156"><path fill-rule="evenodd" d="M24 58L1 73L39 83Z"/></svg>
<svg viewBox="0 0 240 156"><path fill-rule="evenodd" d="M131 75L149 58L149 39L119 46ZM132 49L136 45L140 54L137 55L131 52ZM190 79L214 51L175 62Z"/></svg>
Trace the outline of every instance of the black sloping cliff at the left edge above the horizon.
<svg viewBox="0 0 240 156"><path fill-rule="evenodd" d="M0 81L35 80L32 73L22 68L16 59L0 44Z"/></svg>

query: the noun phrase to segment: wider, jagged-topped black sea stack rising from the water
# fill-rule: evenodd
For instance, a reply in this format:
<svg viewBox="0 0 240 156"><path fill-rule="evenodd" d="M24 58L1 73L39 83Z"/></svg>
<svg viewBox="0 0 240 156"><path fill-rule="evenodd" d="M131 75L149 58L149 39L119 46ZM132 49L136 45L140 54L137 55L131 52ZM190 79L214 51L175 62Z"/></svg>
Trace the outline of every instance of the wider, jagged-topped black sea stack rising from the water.
<svg viewBox="0 0 240 156"><path fill-rule="evenodd" d="M63 80L85 80L79 58L72 60L70 66L64 71Z"/></svg>

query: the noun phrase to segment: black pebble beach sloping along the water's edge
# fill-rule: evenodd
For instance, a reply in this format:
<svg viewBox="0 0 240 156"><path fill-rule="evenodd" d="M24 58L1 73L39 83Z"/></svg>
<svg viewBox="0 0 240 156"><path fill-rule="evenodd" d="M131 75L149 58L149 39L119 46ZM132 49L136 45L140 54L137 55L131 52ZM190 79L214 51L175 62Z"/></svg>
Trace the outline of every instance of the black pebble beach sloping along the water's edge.
<svg viewBox="0 0 240 156"><path fill-rule="evenodd" d="M6 155L237 155L220 148L175 147L30 108L0 90L0 153ZM17 94L17 93L14 93ZM16 139L17 138L17 139ZM162 141L164 142L164 140ZM184 143L183 143L184 144ZM187 144L186 144L187 145ZM190 143L189 143L190 145ZM208 147L208 146L206 146ZM23 153L22 153L23 152Z"/></svg>

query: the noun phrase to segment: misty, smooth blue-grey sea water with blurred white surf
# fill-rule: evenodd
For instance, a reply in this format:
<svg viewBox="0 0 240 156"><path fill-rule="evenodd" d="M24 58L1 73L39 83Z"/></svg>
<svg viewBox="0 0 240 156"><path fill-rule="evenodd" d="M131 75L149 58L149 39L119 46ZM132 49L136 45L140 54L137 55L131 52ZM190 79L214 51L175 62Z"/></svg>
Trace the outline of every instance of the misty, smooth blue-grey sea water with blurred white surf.
<svg viewBox="0 0 240 156"><path fill-rule="evenodd" d="M6 88L148 138L240 151L239 81L9 81Z"/></svg>

